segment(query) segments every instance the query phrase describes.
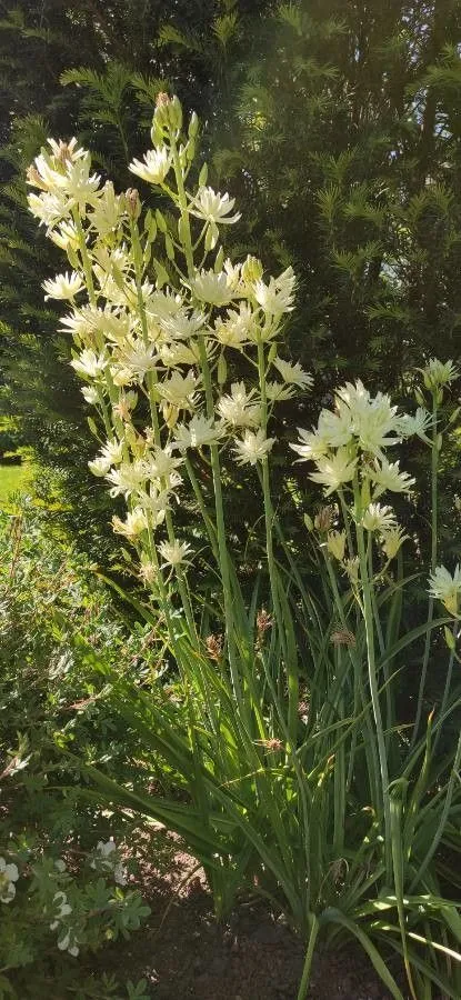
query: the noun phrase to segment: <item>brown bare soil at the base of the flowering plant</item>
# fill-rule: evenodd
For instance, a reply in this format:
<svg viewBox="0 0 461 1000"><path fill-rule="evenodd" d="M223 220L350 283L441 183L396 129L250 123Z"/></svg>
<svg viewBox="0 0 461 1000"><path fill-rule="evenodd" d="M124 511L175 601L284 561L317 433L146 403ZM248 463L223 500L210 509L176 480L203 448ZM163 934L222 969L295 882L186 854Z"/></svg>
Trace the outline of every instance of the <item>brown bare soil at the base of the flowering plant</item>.
<svg viewBox="0 0 461 1000"><path fill-rule="evenodd" d="M143 872L151 917L130 941L104 949L102 961L98 956L98 971L121 982L144 978L152 1000L297 1000L304 960L299 940L258 903L240 904L218 924L203 879L183 884L190 867L191 859L177 854L167 878ZM308 996L391 1000L353 944L315 957Z"/></svg>

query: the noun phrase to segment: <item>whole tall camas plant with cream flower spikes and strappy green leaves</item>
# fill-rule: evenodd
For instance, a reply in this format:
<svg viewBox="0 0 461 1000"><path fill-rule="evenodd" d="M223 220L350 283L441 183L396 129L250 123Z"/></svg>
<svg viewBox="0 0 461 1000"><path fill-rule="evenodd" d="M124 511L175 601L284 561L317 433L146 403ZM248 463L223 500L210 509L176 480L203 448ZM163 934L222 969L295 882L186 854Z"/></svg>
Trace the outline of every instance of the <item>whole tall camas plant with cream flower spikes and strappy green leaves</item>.
<svg viewBox="0 0 461 1000"><path fill-rule="evenodd" d="M196 116L184 136L178 100L160 94L153 148L131 170L169 199L168 214L143 213L133 189L101 186L74 139L50 141L29 171L39 191L30 208L72 269L46 292L72 307L62 327L101 440L91 467L127 501L113 527L134 548L149 594L138 607L169 670L160 697L120 678L113 697L144 749L162 758L174 796L88 772L112 802L184 838L219 916L242 887L288 913L308 941L300 998L319 933L335 947L355 936L394 998L403 994L383 954L403 958L412 997L435 987L455 998L461 741L444 757L433 747L460 704L452 673L461 582L437 567L444 399L457 372L432 359L412 416L360 381L347 384L317 430L300 431L292 447L315 463L311 479L331 502L314 521L305 516L299 564L270 479L273 408L311 387L279 353L295 279L291 268L267 278L259 260L224 259L221 227L239 216L232 198L206 186L206 167L192 186L197 137ZM229 386L234 352L248 377ZM432 449L432 597L417 628L405 610L405 594L414 597L403 578L407 536L382 502L414 487L392 460L410 436ZM250 593L227 532L232 460L262 498ZM302 513L294 478L290 488ZM188 541L178 531L184 506L201 523ZM208 562L214 583L206 590ZM435 618L439 598L449 613ZM445 691L424 730L432 640L450 621ZM418 706L402 720L401 674L421 643Z"/></svg>

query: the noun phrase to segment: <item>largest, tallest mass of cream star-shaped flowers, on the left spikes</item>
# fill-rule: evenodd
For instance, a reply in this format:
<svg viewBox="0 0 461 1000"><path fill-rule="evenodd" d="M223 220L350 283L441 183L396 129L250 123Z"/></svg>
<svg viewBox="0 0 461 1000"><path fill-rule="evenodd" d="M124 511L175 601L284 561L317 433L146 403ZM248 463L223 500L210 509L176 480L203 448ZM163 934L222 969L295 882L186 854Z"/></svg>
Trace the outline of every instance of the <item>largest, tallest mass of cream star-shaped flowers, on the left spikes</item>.
<svg viewBox="0 0 461 1000"><path fill-rule="evenodd" d="M74 139L49 140L28 172L30 209L71 268L44 282L46 297L70 304L61 329L72 334L71 364L106 431L90 469L124 498L113 529L136 546L151 581L192 554L172 517L194 452L228 447L240 466L263 463L275 442L273 407L312 383L278 353L292 269L267 277L255 258L226 259L220 229L240 219L234 199L207 184L206 169L187 190L197 128L192 116L184 137L178 100L160 94L153 148L130 164L172 201L174 224L159 210L142 213L133 189L116 194L102 184ZM241 356L249 382L226 386L229 351Z"/></svg>

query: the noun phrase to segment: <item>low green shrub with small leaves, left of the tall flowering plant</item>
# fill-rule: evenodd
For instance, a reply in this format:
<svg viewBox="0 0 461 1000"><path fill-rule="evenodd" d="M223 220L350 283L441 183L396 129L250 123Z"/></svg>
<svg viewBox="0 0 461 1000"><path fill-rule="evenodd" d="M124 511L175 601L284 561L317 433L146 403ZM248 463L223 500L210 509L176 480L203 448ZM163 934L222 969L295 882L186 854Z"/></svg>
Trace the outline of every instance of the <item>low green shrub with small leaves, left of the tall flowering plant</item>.
<svg viewBox="0 0 461 1000"><path fill-rule="evenodd" d="M2 516L0 553L0 998L37 1000L52 982L59 997L144 1000L142 982L86 978L86 957L128 938L150 911L131 881L139 823L77 788L73 754L102 754L128 780L139 769L111 712L108 673L146 681L149 630L132 623L129 633L49 512L24 503Z"/></svg>

